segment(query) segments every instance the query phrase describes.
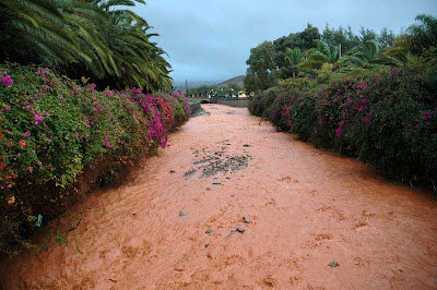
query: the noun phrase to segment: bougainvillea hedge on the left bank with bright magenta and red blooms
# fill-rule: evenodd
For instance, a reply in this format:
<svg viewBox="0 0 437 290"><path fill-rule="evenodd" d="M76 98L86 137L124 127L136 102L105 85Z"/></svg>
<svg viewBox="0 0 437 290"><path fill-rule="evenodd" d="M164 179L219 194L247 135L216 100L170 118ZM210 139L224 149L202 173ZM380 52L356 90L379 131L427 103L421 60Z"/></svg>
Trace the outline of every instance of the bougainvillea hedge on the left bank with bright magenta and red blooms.
<svg viewBox="0 0 437 290"><path fill-rule="evenodd" d="M97 92L36 67L1 64L0 81L2 253L92 183L165 147L167 132L189 118L184 96Z"/></svg>

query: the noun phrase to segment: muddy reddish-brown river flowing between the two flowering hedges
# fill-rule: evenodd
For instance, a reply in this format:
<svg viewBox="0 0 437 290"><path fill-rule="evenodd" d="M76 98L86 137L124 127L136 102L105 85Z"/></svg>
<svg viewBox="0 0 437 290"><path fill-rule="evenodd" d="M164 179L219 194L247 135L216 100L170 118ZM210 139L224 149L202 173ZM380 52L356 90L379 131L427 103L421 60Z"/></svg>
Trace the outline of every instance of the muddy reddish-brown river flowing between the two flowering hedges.
<svg viewBox="0 0 437 290"><path fill-rule="evenodd" d="M203 108L128 182L62 216L82 218L69 245L3 261L3 288L437 288L433 194L247 109Z"/></svg>

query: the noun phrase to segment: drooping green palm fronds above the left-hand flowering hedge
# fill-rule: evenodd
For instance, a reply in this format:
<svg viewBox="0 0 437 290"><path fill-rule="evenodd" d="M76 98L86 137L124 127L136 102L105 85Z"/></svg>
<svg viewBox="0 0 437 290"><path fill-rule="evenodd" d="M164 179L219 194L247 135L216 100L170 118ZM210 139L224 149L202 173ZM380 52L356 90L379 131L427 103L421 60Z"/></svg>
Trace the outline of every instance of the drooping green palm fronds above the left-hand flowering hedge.
<svg viewBox="0 0 437 290"><path fill-rule="evenodd" d="M138 1L144 3L143 1ZM0 0L0 61L44 63L101 87L170 89L165 53L133 1Z"/></svg>

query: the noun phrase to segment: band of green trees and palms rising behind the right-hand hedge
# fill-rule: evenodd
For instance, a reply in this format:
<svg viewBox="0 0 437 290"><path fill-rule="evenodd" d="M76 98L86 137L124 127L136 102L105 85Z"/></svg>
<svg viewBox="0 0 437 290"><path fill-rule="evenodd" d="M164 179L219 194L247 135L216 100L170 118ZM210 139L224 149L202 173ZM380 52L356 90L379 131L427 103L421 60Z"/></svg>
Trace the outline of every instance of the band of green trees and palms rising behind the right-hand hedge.
<svg viewBox="0 0 437 290"><path fill-rule="evenodd" d="M437 20L420 14L416 21L399 36L388 28L377 33L365 27L356 35L350 26L332 28L328 24L320 34L308 23L303 32L250 49L246 89L264 90L288 77L316 78L320 74L319 80L328 80L330 72L401 65L410 55L429 59L437 43Z"/></svg>

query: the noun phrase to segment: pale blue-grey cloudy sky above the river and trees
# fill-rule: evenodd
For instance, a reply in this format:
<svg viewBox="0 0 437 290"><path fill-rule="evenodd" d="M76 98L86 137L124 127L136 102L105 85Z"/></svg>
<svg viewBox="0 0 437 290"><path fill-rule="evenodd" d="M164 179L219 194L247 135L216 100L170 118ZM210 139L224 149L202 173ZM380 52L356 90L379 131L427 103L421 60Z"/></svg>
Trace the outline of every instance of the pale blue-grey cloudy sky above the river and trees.
<svg viewBox="0 0 437 290"><path fill-rule="evenodd" d="M350 25L395 34L418 13L436 16L436 0L146 0L133 9L158 33L177 81L225 81L246 73L250 48L307 23L323 31Z"/></svg>

